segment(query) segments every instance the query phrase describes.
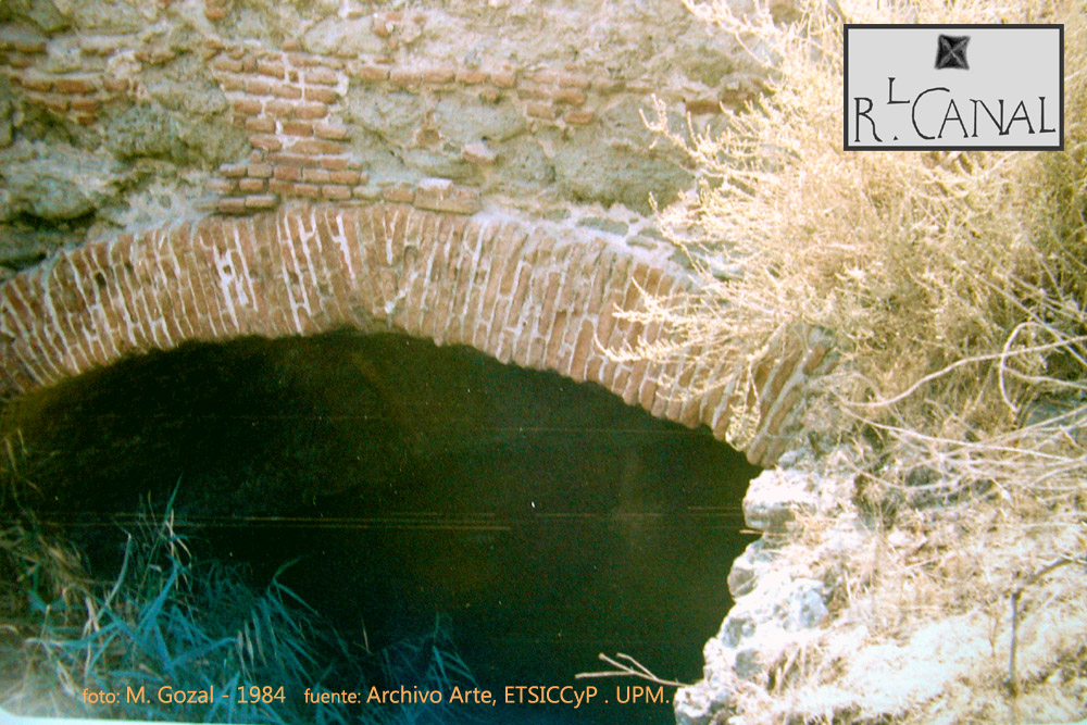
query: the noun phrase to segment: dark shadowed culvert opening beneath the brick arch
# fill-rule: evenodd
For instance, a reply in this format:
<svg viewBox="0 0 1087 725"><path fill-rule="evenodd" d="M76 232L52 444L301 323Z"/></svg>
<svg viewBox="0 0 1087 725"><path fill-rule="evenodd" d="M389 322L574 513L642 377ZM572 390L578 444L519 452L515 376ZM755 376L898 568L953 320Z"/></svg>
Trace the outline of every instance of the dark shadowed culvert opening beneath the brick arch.
<svg viewBox="0 0 1087 725"><path fill-rule="evenodd" d="M514 722L510 687L589 684L597 702L576 710L514 689L516 722L671 722L667 702L617 701L648 683L574 675L624 652L698 679L751 540L757 470L704 428L403 336L188 343L28 396L5 429L22 482L5 515L61 527L96 579L117 576L148 499L161 514L173 496L195 559L241 563L258 589L275 578L352 646L430 646L440 625L500 703L472 716L496 722Z"/></svg>

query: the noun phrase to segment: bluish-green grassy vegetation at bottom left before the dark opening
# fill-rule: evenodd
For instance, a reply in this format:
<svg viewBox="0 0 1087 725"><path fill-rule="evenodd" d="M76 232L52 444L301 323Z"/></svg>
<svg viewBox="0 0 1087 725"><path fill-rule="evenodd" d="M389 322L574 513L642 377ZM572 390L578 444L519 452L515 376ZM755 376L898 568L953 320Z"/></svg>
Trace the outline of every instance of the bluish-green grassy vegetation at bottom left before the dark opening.
<svg viewBox="0 0 1087 725"><path fill-rule="evenodd" d="M5 492L7 493L7 492ZM4 503L12 503L10 499ZM0 704L24 715L216 723L454 722L448 702L372 708L322 693L472 686L442 622L379 652L349 643L279 574L263 590L236 563L197 561L173 501L122 534L116 578L22 511L0 530ZM167 699L160 688L167 688ZM271 687L270 687L271 686ZM209 691L205 702L172 692ZM136 697L142 690L143 702ZM120 692L115 703L96 700ZM221 697L228 695L230 697ZM308 695L308 698L307 698ZM184 698L182 698L184 700Z"/></svg>

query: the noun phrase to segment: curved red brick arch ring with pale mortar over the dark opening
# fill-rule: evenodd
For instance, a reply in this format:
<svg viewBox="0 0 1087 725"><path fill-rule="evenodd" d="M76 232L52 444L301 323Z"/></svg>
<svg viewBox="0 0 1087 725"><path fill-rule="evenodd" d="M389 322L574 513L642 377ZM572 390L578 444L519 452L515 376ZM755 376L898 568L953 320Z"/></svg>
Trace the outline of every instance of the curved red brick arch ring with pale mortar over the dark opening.
<svg viewBox="0 0 1087 725"><path fill-rule="evenodd" d="M0 287L0 397L187 340L396 329L598 383L724 439L730 401L752 391L678 393L723 375L729 361L676 375L613 362L601 349L659 334L615 316L637 309L640 290L690 284L683 270L603 238L564 238L487 214L377 204L210 216L89 242ZM752 462L770 464L782 452L779 432L825 351L794 341L757 370L760 421L753 435L732 441Z"/></svg>

